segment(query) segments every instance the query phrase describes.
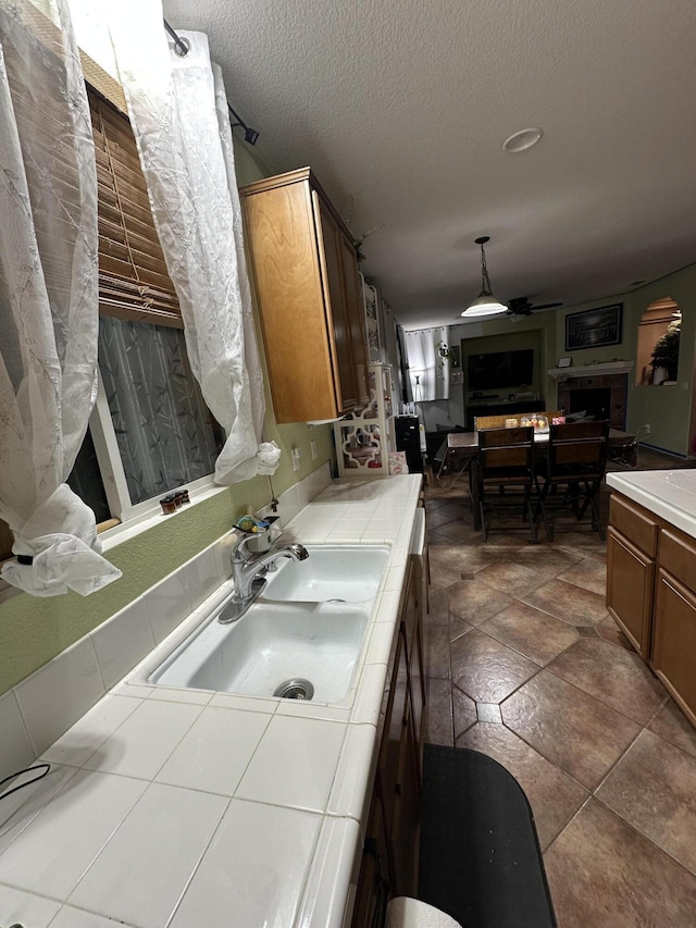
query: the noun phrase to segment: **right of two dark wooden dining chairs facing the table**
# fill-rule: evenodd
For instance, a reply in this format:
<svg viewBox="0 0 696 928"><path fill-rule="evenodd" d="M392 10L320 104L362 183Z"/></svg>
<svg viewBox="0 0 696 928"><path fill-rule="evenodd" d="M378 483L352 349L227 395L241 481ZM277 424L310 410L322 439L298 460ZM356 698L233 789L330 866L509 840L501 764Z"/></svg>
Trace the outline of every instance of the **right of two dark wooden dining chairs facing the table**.
<svg viewBox="0 0 696 928"><path fill-rule="evenodd" d="M548 436L546 470L542 470L544 486L539 506L547 510L572 508L580 521L587 509L592 512L592 527L604 541L605 532L599 517L597 497L607 469L609 422L570 422L551 425ZM564 486L562 497L549 503L549 491ZM538 511L543 511L539 509ZM554 522L545 521L549 541L554 539Z"/></svg>

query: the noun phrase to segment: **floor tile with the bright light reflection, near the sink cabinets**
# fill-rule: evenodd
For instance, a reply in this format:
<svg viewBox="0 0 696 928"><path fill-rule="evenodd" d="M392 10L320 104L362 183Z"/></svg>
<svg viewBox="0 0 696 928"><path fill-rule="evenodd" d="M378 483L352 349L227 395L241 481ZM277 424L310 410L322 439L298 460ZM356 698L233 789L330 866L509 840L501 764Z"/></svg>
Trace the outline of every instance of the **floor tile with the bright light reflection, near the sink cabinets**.
<svg viewBox="0 0 696 928"><path fill-rule="evenodd" d="M538 665L473 629L451 644L452 680L472 700L500 703L538 670Z"/></svg>

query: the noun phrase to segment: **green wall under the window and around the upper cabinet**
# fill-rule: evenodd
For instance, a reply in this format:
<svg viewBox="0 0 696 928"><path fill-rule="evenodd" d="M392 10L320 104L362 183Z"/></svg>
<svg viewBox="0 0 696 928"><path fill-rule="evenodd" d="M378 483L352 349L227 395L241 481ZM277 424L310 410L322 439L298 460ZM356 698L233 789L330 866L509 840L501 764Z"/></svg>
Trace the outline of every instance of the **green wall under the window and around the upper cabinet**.
<svg viewBox="0 0 696 928"><path fill-rule="evenodd" d="M240 186L268 176L265 165L236 137L235 156ZM262 351L260 335L259 346ZM46 599L18 593L0 604L0 695L214 542L248 506L259 509L269 503L271 482L277 496L327 460L335 460L331 425L310 429L304 422L276 424L263 357L262 363L266 384L264 438L274 441L283 453L275 474L271 480L257 477L236 484L111 548L107 557L123 571L123 577L98 593L87 597L70 593ZM311 441L316 442L315 460ZM290 448L295 447L301 451L296 472L290 460Z"/></svg>

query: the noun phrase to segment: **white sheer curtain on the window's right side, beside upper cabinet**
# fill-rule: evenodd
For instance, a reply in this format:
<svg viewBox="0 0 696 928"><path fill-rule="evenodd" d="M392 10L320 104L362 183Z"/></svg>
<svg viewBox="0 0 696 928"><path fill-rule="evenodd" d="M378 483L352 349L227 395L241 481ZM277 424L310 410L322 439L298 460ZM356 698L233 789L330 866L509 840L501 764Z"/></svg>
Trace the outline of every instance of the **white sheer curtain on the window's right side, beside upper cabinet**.
<svg viewBox="0 0 696 928"><path fill-rule="evenodd" d="M134 27L137 24L137 27ZM166 267L184 318L191 369L227 434L215 481L273 473L281 455L261 443L263 382L253 334L226 106L208 39L177 55L160 0L119 0L110 29Z"/></svg>

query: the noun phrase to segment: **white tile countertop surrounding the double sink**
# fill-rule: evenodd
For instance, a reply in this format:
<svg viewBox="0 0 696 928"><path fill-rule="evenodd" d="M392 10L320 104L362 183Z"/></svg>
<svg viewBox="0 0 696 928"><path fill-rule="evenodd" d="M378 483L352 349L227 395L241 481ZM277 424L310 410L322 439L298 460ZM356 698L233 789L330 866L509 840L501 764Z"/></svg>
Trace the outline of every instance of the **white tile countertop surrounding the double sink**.
<svg viewBox="0 0 696 928"><path fill-rule="evenodd" d="M44 751L48 777L0 804L0 925L349 924L420 487L334 481L284 533L390 546L350 697L167 689L136 668Z"/></svg>

